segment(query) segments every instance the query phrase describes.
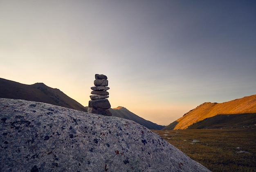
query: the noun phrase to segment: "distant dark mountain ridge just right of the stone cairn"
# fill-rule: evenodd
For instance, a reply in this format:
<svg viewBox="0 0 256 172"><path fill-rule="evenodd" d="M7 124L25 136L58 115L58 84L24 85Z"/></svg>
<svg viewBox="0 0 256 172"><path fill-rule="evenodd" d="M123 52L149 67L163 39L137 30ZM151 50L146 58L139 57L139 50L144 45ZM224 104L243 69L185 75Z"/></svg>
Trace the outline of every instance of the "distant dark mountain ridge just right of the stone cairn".
<svg viewBox="0 0 256 172"><path fill-rule="evenodd" d="M154 130L161 130L162 128L164 128L165 126L162 125L157 125L153 122L150 122L148 120L145 120L141 117L139 117L138 115L130 112L128 109L126 109L125 107L117 107L117 108L113 108L110 109L110 112L112 113L113 116L116 117L120 117L120 118L125 118L128 120L132 120L134 122L137 122L143 126L146 126L148 129L154 129Z"/></svg>

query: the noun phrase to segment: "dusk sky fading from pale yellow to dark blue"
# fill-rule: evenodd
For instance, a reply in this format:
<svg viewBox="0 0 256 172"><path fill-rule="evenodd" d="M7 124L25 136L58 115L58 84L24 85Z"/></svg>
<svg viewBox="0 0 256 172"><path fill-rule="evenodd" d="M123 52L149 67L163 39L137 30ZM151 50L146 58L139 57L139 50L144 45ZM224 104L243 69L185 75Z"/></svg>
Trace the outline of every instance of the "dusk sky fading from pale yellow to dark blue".
<svg viewBox="0 0 256 172"><path fill-rule="evenodd" d="M168 125L204 102L256 94L255 0L0 0L0 78Z"/></svg>

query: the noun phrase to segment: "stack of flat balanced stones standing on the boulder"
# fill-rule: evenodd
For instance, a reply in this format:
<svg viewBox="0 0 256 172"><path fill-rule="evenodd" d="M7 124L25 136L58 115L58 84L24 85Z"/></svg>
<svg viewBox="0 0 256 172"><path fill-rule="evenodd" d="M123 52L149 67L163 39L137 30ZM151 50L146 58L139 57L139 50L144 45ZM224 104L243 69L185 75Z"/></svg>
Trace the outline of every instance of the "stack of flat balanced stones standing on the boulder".
<svg viewBox="0 0 256 172"><path fill-rule="evenodd" d="M95 74L95 87L91 87L91 94L94 95L90 96L91 100L89 101L88 112L112 116L112 113L108 110L111 107L110 103L106 99L109 97L107 79L106 75Z"/></svg>

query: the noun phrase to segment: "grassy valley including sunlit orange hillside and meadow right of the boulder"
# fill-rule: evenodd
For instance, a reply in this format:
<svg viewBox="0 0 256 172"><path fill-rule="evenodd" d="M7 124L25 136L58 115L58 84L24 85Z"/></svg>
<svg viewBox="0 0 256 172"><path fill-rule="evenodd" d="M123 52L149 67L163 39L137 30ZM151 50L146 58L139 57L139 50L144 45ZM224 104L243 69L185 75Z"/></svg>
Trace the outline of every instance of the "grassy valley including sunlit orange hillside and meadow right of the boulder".
<svg viewBox="0 0 256 172"><path fill-rule="evenodd" d="M154 132L213 172L256 171L256 95L203 103Z"/></svg>

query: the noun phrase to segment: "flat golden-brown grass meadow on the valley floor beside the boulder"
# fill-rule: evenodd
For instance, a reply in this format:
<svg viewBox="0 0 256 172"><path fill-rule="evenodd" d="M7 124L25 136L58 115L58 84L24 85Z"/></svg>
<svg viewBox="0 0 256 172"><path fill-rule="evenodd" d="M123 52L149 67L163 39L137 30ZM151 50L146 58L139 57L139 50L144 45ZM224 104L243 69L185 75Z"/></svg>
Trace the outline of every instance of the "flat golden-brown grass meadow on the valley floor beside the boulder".
<svg viewBox="0 0 256 172"><path fill-rule="evenodd" d="M255 129L152 131L213 172L256 171Z"/></svg>

